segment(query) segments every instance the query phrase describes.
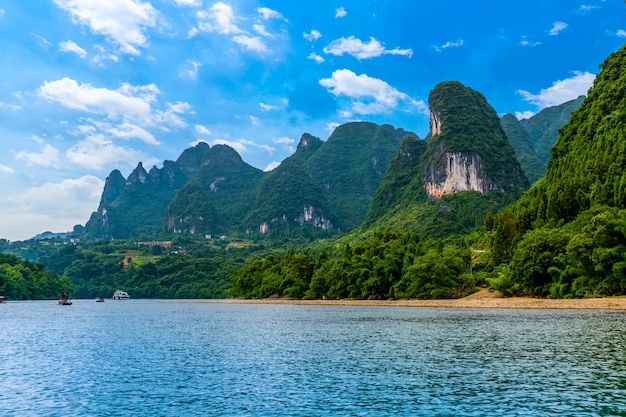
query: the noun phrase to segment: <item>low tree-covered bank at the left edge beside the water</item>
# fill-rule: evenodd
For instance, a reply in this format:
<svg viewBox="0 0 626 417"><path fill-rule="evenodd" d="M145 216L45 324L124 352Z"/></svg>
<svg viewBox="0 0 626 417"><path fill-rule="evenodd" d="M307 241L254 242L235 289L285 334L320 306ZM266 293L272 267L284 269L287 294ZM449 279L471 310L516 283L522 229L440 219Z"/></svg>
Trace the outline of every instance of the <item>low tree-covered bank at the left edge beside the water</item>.
<svg viewBox="0 0 626 417"><path fill-rule="evenodd" d="M9 300L57 298L71 293L67 277L44 269L41 263L22 261L15 255L0 253L0 295Z"/></svg>

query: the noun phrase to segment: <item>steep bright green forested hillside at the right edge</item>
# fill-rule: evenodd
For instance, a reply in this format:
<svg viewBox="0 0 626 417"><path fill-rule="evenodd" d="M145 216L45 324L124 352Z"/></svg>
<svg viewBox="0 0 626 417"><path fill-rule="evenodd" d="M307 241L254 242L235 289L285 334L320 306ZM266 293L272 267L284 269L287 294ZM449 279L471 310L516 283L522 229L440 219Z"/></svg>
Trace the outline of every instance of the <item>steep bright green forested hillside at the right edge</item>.
<svg viewBox="0 0 626 417"><path fill-rule="evenodd" d="M582 297L626 293L626 46L551 150L546 176L487 225L492 285L510 293ZM510 263L508 262L510 260Z"/></svg>

